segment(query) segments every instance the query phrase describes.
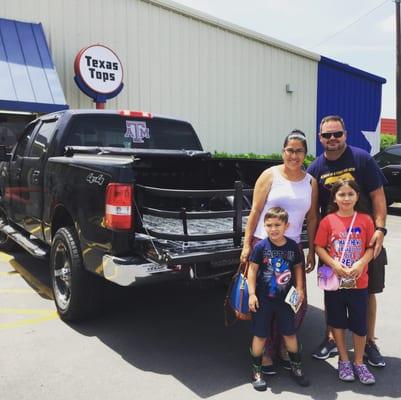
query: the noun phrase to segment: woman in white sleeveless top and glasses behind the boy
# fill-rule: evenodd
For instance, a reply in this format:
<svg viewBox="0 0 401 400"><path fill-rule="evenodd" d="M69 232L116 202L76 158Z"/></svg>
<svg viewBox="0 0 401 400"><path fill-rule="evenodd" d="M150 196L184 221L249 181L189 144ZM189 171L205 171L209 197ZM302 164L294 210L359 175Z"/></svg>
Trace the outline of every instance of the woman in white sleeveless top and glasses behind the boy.
<svg viewBox="0 0 401 400"><path fill-rule="evenodd" d="M305 172L303 163L307 154L306 138L303 132L294 130L284 141L282 157L283 164L266 169L255 183L252 209L245 230L241 261L246 262L253 246L266 237L264 216L271 207L282 207L288 212L289 228L285 236L300 244L302 225L306 217L309 252L305 271L311 272L315 267L314 238L318 223L318 187L316 180ZM304 279L304 282L306 280ZM296 315L297 327L302 323L306 312L305 300L301 310ZM273 343L274 344L274 343ZM277 345L277 342L276 342ZM270 349L269 355L278 352ZM272 360L264 358L263 364L270 365Z"/></svg>

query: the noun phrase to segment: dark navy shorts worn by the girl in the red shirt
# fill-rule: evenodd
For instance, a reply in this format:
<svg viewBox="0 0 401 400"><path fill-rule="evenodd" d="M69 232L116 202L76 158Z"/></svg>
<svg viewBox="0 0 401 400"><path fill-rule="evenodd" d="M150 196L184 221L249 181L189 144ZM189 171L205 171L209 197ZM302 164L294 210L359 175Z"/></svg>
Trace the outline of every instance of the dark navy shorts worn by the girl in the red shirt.
<svg viewBox="0 0 401 400"><path fill-rule="evenodd" d="M358 336L366 336L368 289L339 289L324 291L327 325L349 329Z"/></svg>

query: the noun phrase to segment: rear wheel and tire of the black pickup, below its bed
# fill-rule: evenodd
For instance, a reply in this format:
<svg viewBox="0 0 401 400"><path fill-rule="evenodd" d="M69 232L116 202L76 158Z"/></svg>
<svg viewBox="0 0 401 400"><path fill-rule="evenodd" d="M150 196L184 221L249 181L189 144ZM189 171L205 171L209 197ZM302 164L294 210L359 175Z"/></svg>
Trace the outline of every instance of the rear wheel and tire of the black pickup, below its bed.
<svg viewBox="0 0 401 400"><path fill-rule="evenodd" d="M98 313L100 278L85 270L74 228L60 228L54 235L50 271L54 301L63 321L79 321Z"/></svg>

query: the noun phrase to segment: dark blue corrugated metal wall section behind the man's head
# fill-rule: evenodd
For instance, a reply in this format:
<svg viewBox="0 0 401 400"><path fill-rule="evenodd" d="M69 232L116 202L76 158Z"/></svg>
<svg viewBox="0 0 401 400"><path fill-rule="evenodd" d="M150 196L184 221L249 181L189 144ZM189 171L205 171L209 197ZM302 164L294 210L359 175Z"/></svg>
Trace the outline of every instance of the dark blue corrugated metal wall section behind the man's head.
<svg viewBox="0 0 401 400"><path fill-rule="evenodd" d="M381 95L385 82L378 76L322 57L318 72L316 131L324 116L340 115L347 128L347 143L370 151L371 145L362 131L376 132L376 140L380 141ZM322 151L317 142L316 153Z"/></svg>

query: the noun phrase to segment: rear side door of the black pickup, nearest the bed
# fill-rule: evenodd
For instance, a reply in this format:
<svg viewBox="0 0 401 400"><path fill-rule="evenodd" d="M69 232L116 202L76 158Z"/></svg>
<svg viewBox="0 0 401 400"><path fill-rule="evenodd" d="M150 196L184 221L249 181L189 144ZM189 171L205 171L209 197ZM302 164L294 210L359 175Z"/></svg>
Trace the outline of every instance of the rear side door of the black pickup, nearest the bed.
<svg viewBox="0 0 401 400"><path fill-rule="evenodd" d="M27 232L40 239L44 238L42 229L43 169L56 124L55 119L41 121L41 125L33 134L21 171L21 186L26 188L22 193L25 205L24 227Z"/></svg>

